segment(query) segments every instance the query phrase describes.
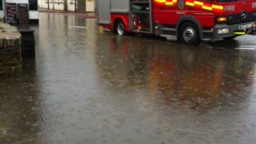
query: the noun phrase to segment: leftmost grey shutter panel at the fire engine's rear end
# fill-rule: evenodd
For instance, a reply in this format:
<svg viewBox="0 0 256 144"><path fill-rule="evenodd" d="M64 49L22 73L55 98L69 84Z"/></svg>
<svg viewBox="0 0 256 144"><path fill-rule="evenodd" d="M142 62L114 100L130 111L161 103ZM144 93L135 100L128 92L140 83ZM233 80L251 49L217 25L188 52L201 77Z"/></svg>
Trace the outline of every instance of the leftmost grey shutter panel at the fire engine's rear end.
<svg viewBox="0 0 256 144"><path fill-rule="evenodd" d="M110 24L110 0L97 0L98 24Z"/></svg>

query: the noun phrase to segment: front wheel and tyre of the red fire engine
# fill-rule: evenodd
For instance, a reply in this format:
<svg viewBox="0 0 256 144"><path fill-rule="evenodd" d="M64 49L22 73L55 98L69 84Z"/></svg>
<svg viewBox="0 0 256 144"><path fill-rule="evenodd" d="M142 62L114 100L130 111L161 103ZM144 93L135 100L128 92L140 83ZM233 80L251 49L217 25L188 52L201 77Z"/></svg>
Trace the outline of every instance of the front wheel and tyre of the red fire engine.
<svg viewBox="0 0 256 144"><path fill-rule="evenodd" d="M193 23L184 23L179 29L179 40L186 45L199 45L201 43L198 26Z"/></svg>

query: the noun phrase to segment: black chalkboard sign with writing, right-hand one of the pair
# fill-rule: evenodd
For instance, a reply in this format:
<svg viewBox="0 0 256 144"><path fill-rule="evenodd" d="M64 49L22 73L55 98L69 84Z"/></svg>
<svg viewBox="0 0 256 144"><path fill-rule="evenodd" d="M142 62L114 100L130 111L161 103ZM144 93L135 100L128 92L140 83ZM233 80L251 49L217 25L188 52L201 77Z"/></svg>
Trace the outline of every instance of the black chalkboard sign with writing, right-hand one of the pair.
<svg viewBox="0 0 256 144"><path fill-rule="evenodd" d="M29 8L26 3L18 3L19 24L29 24Z"/></svg>

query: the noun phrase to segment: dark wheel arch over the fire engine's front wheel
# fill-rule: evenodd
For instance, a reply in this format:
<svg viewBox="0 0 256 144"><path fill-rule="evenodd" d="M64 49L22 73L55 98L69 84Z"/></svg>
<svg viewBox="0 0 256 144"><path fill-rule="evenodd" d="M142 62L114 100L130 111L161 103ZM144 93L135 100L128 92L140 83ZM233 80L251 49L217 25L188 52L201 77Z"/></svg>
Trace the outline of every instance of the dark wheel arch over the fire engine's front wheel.
<svg viewBox="0 0 256 144"><path fill-rule="evenodd" d="M190 23L194 23L196 26L198 26L198 30L199 30L199 34L200 34L200 39L202 40L203 36L202 36L202 26L201 24L199 23L199 21L191 16L191 15L184 15L183 17L181 17L178 22L177 22L177 25L176 25L176 36L177 36L177 39L179 39L179 29L180 29L180 26L186 22L190 22Z"/></svg>

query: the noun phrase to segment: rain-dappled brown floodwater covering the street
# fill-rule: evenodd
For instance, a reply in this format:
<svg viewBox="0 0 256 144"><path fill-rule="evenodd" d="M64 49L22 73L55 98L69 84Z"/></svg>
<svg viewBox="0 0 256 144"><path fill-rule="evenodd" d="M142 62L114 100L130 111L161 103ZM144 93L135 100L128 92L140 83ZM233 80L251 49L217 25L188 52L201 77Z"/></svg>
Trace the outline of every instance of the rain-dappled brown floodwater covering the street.
<svg viewBox="0 0 256 144"><path fill-rule="evenodd" d="M0 143L255 143L255 36L186 46L40 13Z"/></svg>

